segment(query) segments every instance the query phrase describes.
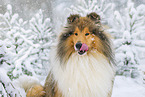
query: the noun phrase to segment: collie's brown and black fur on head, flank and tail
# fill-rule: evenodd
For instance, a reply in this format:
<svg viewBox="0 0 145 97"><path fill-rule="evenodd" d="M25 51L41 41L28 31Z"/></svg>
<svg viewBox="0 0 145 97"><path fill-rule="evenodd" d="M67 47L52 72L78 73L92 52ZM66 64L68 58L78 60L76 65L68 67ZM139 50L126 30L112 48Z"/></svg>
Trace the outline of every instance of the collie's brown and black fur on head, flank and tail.
<svg viewBox="0 0 145 97"><path fill-rule="evenodd" d="M95 49L98 53L103 54L110 64L114 64L114 56L112 55L113 52L110 47L111 44L107 34L102 30L99 15L96 13L88 14L86 17L80 17L77 14L70 15L67 21L68 25L64 28L64 32L59 36L59 43L57 46L57 56L62 64L75 52L74 44L80 40L82 43L88 45L89 50L87 51L87 54L89 54L91 49ZM75 33L80 35L77 37ZM88 33L89 36L85 37L86 33ZM67 40L68 37L69 40ZM92 42L92 39L94 39L94 42ZM112 91L108 93L108 97L111 97L111 94ZM27 97L63 97L63 94L53 78L53 72L50 71L44 87L37 85L32 87L28 91Z"/></svg>

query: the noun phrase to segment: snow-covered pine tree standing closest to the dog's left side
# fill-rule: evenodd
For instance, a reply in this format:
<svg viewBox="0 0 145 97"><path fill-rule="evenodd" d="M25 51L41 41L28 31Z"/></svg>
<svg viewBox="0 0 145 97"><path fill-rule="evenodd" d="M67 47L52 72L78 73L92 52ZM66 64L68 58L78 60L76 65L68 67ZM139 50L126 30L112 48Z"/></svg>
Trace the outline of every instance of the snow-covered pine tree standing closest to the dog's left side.
<svg viewBox="0 0 145 97"><path fill-rule="evenodd" d="M30 46L31 50L24 64L28 70L33 70L33 75L44 77L48 73L46 69L48 70L49 65L49 51L54 38L51 21L49 18L44 19L42 10L39 10L29 25L31 31L27 39L37 46Z"/></svg>

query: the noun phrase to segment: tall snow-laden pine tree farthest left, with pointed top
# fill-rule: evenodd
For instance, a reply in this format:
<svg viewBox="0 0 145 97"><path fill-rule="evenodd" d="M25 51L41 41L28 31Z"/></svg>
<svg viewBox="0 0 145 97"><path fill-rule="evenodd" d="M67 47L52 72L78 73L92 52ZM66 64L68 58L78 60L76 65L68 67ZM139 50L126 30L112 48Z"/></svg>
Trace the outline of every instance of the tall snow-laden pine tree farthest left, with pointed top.
<svg viewBox="0 0 145 97"><path fill-rule="evenodd" d="M30 31L25 29L27 21L19 19L19 15L12 12L11 5L7 5L7 12L1 17L4 20L3 24L5 24L1 29L3 41L8 49L7 54L11 56L11 68L8 70L8 76L10 79L15 79L23 74L32 75L32 72L28 71L26 65L23 64L29 50L32 49L31 41L26 38Z"/></svg>

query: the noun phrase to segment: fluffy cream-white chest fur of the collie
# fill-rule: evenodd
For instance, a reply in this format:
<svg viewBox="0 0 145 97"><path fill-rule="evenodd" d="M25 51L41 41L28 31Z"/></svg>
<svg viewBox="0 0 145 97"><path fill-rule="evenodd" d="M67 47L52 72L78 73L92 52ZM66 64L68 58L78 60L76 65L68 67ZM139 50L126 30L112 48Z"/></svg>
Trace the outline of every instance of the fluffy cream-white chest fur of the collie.
<svg viewBox="0 0 145 97"><path fill-rule="evenodd" d="M76 52L61 65L53 59L54 80L64 97L108 97L114 69L102 54L91 52L80 56Z"/></svg>

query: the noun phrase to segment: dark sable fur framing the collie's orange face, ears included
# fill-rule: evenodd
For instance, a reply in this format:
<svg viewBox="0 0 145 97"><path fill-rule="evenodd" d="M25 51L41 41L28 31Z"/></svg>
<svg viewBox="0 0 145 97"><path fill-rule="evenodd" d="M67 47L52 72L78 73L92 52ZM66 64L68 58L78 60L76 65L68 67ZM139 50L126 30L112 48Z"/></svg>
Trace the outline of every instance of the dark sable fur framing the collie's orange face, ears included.
<svg viewBox="0 0 145 97"><path fill-rule="evenodd" d="M87 17L80 17L79 15L71 15L70 17L68 17L68 22L69 21L73 21L73 22L69 22L68 25L64 28L64 32L60 35L59 38L59 43L57 46L57 55L58 58L60 58L61 61L66 61L69 56L74 52L74 50L70 51L70 48L73 48L73 46L66 46L66 41L68 39L68 37L70 37L71 35L74 34L76 27L78 27L78 29L80 31L82 31L85 27L87 27L90 31L91 34L96 35L98 38L100 38L101 41L101 48L99 48L100 52L102 52L111 63L115 63L114 62L114 54L112 52L112 48L111 48L111 43L110 40L107 36L107 34L103 31L102 26L100 23L96 24L96 20L100 20L100 16L98 17L98 15L94 15L95 13L90 13L87 15ZM93 15L93 16L92 16ZM76 16L75 20L73 19ZM92 17L94 18L92 18ZM96 16L96 18L95 18ZM91 17L91 18L90 18ZM98 19L99 18L99 19ZM69 20L71 19L71 20ZM68 54L69 52L69 54ZM66 54L67 53L67 54Z"/></svg>

